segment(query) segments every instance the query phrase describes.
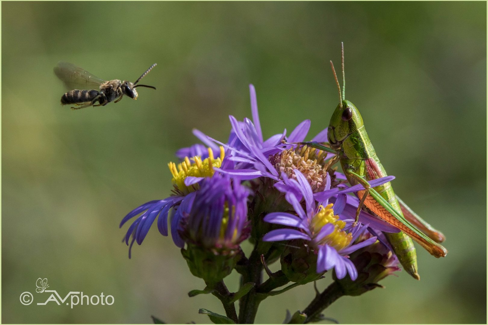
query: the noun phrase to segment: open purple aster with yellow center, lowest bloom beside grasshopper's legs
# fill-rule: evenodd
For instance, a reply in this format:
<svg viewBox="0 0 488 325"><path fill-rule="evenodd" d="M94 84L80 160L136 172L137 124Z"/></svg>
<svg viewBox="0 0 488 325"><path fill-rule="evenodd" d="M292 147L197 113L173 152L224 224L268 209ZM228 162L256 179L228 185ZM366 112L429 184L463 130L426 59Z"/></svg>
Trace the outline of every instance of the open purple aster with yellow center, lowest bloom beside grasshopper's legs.
<svg viewBox="0 0 488 325"><path fill-rule="evenodd" d="M283 184L278 183L275 186L279 191L285 192L286 200L293 206L297 215L287 212L272 212L264 217L264 221L297 229L271 230L264 235L263 241L305 240L317 254L317 273L334 268L338 279L344 278L348 273L354 280L357 277L357 271L346 255L374 243L376 237L351 245L354 240L364 233L367 227L380 231L398 231L398 229L371 215L367 216L366 212L361 213L358 226L352 227L354 219L346 219L350 217L347 212L351 210L351 207L355 211L357 206L354 208L347 203L345 193L357 191L357 189L354 187L342 191L337 188L330 189L330 179L328 179L325 191L315 194L315 198L318 197L319 202L325 203L326 206L317 207L314 194L305 176L298 170L295 170L294 173L296 179L283 175ZM391 178L384 177L376 181L386 183L389 180ZM334 199L332 199L333 197ZM329 199L335 200L335 203L327 204ZM305 209L301 204L302 200L305 201Z"/></svg>

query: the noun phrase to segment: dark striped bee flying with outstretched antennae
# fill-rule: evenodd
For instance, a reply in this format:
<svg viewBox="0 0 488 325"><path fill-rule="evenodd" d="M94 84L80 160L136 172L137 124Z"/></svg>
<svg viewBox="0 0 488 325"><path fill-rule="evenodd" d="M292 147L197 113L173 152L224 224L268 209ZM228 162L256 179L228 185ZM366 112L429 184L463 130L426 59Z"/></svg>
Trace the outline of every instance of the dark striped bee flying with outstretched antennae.
<svg viewBox="0 0 488 325"><path fill-rule="evenodd" d="M71 109L77 110L88 106L105 106L107 103L117 99L114 101L114 103L116 103L120 101L124 95L129 96L132 99L137 99L139 94L137 93L136 87L156 89L156 87L153 86L137 84L155 66L156 63L151 65L149 69L136 80L136 82L132 83L128 80L121 81L119 79L105 81L72 63L59 62L54 68L56 76L58 76L69 89L77 87L81 87L82 89L74 89L64 94L61 97L61 105L75 104L78 106L71 107ZM98 88L99 90L94 88ZM98 104L95 105L97 101Z"/></svg>

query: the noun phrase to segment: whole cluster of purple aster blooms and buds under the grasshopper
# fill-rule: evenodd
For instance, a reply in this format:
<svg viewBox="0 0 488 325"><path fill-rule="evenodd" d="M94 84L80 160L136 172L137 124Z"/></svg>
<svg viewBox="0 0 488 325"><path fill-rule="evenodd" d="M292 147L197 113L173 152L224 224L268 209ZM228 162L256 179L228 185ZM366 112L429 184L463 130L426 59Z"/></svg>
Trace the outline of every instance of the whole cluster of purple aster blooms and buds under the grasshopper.
<svg viewBox="0 0 488 325"><path fill-rule="evenodd" d="M266 262L280 259L286 281L304 284L333 269L337 279L349 275L354 282L358 269L351 254L377 242L370 232L398 229L366 211L353 224L359 201L349 194L361 185L351 187L332 167L333 153L303 143L310 120L288 135L284 130L264 139L252 85L250 94L252 120L229 116L227 141L194 130L203 144L178 150L180 161L168 164L172 194L122 219L120 227L139 215L124 237L129 257L133 243L141 245L158 219L160 233L171 232L190 271L207 286L215 286L238 263L249 263L240 249L248 237ZM327 129L311 141L326 146L326 134Z"/></svg>

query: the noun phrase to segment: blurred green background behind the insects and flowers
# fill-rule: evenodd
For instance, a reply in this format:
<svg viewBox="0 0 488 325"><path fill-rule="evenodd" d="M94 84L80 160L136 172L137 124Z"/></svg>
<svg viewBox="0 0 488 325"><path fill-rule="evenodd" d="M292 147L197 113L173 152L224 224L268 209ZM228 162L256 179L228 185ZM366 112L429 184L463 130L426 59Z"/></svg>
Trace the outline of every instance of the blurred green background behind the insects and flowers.
<svg viewBox="0 0 488 325"><path fill-rule="evenodd" d="M337 90L328 61L346 51L346 98L360 109L395 191L447 236L446 258L418 247L406 272L325 315L341 323L486 323L485 2L2 2L2 322L209 323L224 313L170 237L151 229L132 259L122 217L170 194L167 162L250 117L264 136L328 125ZM61 107L60 60L104 79L144 78L104 107ZM311 138L309 137L309 139ZM249 249L249 247L246 247ZM276 269L276 265L274 269ZM112 306L23 306L37 278L61 295ZM237 288L238 276L228 278ZM324 288L330 276L319 282ZM36 296L37 295L37 296ZM262 304L257 323L304 309L312 284ZM42 298L39 298L42 297Z"/></svg>

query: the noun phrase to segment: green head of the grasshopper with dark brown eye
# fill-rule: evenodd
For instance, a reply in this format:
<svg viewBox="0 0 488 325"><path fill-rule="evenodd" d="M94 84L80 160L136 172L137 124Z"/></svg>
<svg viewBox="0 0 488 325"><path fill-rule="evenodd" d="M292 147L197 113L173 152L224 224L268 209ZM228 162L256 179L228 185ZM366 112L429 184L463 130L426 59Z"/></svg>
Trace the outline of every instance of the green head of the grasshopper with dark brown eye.
<svg viewBox="0 0 488 325"><path fill-rule="evenodd" d="M327 134L332 148L338 148L351 133L363 126L363 118L358 109L348 100L343 100L330 118Z"/></svg>

